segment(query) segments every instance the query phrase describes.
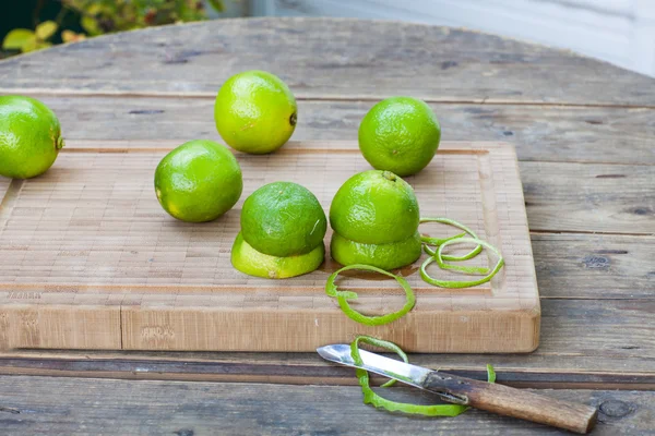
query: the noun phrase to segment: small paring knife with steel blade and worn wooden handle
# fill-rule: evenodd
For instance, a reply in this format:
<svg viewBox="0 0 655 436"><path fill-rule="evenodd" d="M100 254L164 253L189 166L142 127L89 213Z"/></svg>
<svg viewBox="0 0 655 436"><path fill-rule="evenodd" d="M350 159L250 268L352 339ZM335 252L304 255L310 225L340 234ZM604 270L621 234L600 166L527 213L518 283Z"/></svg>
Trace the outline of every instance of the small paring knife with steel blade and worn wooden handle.
<svg viewBox="0 0 655 436"><path fill-rule="evenodd" d="M458 377L366 350L359 351L362 364L358 365L350 355L350 346L347 344L321 347L317 351L327 361L395 378L407 385L428 390L442 400L455 404L471 405L488 412L551 425L580 434L591 432L596 424L598 411L590 405L556 400L503 385Z"/></svg>

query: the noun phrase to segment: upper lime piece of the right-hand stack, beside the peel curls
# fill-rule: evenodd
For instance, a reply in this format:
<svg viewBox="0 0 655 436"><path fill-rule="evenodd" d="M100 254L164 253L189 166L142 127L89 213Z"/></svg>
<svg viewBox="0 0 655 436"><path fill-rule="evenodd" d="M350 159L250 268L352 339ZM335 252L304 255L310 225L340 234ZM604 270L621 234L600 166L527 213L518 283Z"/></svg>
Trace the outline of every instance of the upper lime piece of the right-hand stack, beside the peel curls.
<svg viewBox="0 0 655 436"><path fill-rule="evenodd" d="M348 179L330 206L330 225L350 241L388 244L418 229L418 202L412 186L390 171L370 170Z"/></svg>

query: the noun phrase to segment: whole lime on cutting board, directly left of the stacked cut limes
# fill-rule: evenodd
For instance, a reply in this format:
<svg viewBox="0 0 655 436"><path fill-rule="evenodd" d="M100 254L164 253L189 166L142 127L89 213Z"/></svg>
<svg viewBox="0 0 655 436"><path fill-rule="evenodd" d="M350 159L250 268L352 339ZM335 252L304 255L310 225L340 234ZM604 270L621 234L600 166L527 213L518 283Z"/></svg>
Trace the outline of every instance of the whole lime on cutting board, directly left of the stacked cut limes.
<svg viewBox="0 0 655 436"><path fill-rule="evenodd" d="M164 209L182 221L218 218L237 203L243 181L229 149L212 141L190 141L162 159L155 192Z"/></svg>

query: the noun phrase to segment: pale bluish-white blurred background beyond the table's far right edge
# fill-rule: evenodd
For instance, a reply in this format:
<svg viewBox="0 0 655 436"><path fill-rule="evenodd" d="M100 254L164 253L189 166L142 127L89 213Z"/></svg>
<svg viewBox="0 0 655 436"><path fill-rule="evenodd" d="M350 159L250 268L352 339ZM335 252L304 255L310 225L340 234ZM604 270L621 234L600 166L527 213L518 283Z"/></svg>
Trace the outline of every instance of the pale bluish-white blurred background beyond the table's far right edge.
<svg viewBox="0 0 655 436"><path fill-rule="evenodd" d="M655 0L252 0L250 14L467 27L572 49L655 76Z"/></svg>

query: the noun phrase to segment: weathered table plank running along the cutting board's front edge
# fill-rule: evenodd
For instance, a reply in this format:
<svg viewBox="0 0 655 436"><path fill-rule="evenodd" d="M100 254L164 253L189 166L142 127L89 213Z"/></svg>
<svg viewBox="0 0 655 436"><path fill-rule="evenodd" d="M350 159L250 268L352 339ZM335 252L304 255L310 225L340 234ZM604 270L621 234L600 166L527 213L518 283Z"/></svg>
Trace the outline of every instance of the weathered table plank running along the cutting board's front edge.
<svg viewBox="0 0 655 436"><path fill-rule="evenodd" d="M531 354L413 354L412 362L480 372L493 364L522 386L651 386L655 301L543 300L541 342ZM44 352L0 354L1 374L118 378L352 383L314 353Z"/></svg>

